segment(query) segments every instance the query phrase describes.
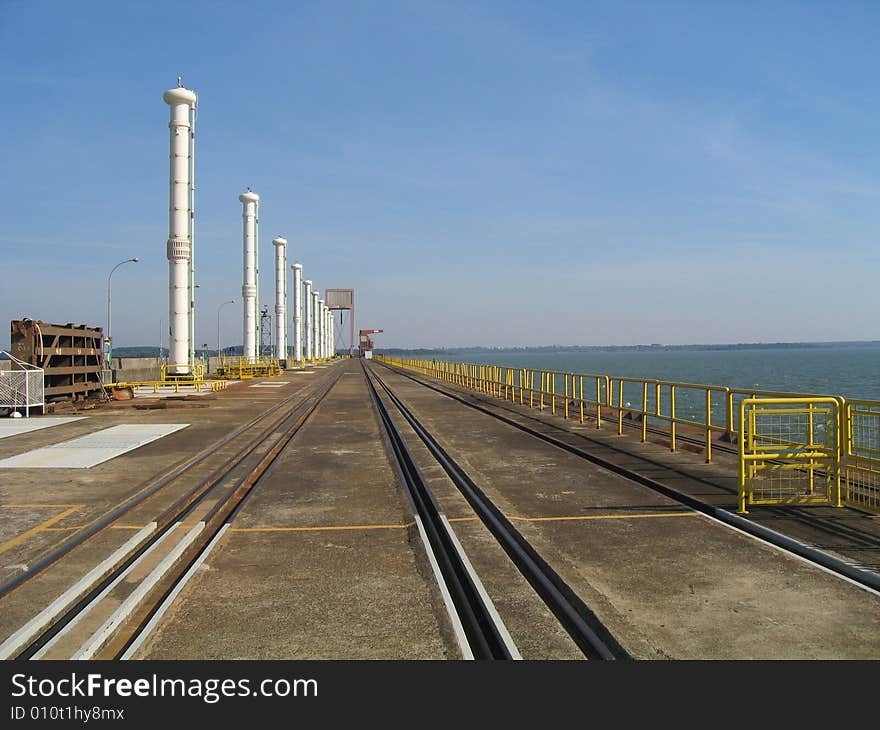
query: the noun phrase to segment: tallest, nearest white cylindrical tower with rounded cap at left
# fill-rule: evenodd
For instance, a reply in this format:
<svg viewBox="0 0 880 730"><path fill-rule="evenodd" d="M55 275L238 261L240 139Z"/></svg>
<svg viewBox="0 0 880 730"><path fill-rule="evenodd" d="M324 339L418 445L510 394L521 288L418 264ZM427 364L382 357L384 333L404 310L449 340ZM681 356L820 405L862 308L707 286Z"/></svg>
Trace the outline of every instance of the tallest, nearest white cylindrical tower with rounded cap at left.
<svg viewBox="0 0 880 730"><path fill-rule="evenodd" d="M162 99L171 107L171 165L169 180L168 242L168 370L170 375L189 375L190 363L190 262L192 209L190 160L192 158L192 110L196 94L178 86Z"/></svg>

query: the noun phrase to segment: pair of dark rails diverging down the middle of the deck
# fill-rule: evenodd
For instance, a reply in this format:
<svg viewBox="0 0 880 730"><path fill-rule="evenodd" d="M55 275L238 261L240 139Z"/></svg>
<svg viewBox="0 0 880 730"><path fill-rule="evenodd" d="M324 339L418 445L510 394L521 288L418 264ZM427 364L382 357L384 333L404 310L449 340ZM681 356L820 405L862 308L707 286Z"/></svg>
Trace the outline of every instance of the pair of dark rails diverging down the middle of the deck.
<svg viewBox="0 0 880 730"><path fill-rule="evenodd" d="M385 429L395 467L413 506L429 561L444 594L459 645L465 658L520 658L501 619L470 568L467 556L431 493L406 441L380 397L379 388L409 423L499 545L552 611L588 659L631 658L596 614L489 500L467 473L395 396L387 384L364 367L373 403ZM375 383L373 382L375 381Z"/></svg>

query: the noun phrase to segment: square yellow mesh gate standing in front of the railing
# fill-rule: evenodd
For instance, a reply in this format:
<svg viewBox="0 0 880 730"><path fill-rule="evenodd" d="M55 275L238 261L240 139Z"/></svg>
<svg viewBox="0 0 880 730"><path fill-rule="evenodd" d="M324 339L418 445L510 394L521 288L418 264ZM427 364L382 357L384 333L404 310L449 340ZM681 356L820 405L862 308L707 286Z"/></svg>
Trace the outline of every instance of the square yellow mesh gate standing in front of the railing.
<svg viewBox="0 0 880 730"><path fill-rule="evenodd" d="M837 398L746 398L739 417L739 507L843 506Z"/></svg>

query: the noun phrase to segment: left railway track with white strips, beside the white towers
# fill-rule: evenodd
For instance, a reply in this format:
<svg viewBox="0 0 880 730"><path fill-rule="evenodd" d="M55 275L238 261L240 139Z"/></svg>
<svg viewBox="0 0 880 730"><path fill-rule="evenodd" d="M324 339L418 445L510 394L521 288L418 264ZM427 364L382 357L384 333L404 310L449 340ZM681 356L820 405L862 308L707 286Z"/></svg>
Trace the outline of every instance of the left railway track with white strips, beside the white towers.
<svg viewBox="0 0 880 730"><path fill-rule="evenodd" d="M9 581L4 586L7 596L234 439L245 440L210 476L187 488L134 538L0 644L0 658L120 656L193 562L219 539L228 521L338 379L336 375L325 387L316 385L285 398L52 551L27 575ZM133 624L137 630L132 631Z"/></svg>

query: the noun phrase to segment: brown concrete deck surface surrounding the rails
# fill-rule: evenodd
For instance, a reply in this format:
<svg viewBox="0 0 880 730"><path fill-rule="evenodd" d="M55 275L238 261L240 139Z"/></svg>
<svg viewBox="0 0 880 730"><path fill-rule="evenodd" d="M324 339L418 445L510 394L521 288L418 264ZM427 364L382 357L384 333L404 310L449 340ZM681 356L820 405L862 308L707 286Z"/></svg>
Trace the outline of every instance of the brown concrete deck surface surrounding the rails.
<svg viewBox="0 0 880 730"><path fill-rule="evenodd" d="M370 367L634 656L880 658L878 596L377 363ZM311 374L304 377L305 372ZM245 381L198 403L164 401L165 409L139 409L133 401L124 408L114 404L89 411L81 421L0 440L4 458L110 425L191 424L91 469L0 470L0 575L14 575L21 564L237 425L337 375L333 390L138 656L457 658L358 361L285 371L277 382L286 386L253 388L264 381ZM670 453L662 443L618 437L616 429L587 433L577 422L546 412L458 392L507 417L541 422L585 448L613 452L618 460L628 459L643 473L650 470L649 475L674 481L676 488L702 499L725 507L734 503L735 472L723 455L706 465L698 454ZM169 406L181 410L171 412ZM579 658L442 469L393 409L392 415L524 658ZM194 470L186 484L206 469ZM127 519L129 527L146 524L186 484L136 509ZM758 521L774 529L816 537L815 526L756 512ZM842 524L880 534L876 517L834 512ZM78 549L75 559L0 600L0 640L130 535L125 529L105 531ZM823 539L838 547L830 533ZM874 560L864 552L861 557L865 563Z"/></svg>

